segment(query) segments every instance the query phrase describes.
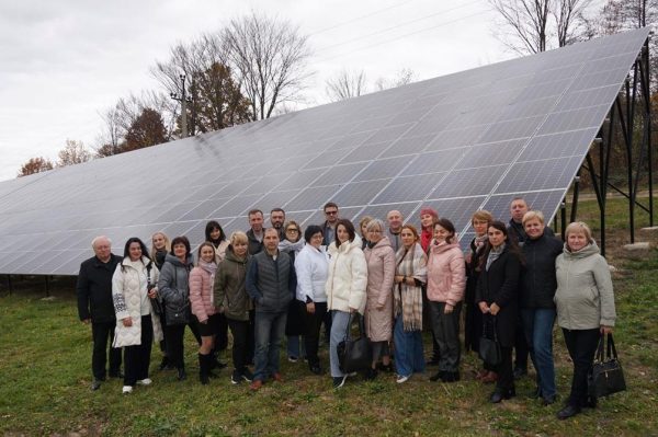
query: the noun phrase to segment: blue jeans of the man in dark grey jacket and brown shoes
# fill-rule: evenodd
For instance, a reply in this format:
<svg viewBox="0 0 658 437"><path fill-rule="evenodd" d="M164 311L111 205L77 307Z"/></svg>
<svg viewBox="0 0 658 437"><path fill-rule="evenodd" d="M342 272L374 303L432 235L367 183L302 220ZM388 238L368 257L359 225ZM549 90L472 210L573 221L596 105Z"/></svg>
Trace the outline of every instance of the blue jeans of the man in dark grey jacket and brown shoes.
<svg viewBox="0 0 658 437"><path fill-rule="evenodd" d="M264 381L279 372L279 349L285 334L286 315L286 311L256 313L254 380Z"/></svg>

